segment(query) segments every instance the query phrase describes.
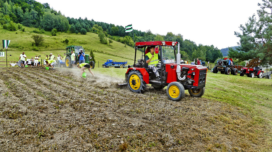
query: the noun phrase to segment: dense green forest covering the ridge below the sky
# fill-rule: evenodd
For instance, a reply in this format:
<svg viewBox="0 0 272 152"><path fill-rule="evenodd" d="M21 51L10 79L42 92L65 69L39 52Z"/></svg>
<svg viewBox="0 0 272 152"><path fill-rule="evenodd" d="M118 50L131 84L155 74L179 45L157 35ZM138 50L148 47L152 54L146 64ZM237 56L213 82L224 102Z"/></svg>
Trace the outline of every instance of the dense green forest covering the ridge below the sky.
<svg viewBox="0 0 272 152"><path fill-rule="evenodd" d="M222 58L221 51L212 46L196 45L190 40L183 40L183 35L167 32L166 35L153 34L151 30L141 32L134 30L133 32L125 32L125 27L115 26L103 22L88 20L86 17L82 19L74 19L65 17L61 12L57 12L50 8L48 3L41 4L34 0L0 0L0 24L4 29L15 31L21 29L22 25L27 27L39 28L40 31L70 32L87 34L93 32L99 34L101 43L108 42L101 39L101 36L124 43L133 47L133 35L135 42L138 41L177 41L180 43L180 51L182 59L196 59L202 61L214 62L218 58ZM37 31L36 31L37 32Z"/></svg>

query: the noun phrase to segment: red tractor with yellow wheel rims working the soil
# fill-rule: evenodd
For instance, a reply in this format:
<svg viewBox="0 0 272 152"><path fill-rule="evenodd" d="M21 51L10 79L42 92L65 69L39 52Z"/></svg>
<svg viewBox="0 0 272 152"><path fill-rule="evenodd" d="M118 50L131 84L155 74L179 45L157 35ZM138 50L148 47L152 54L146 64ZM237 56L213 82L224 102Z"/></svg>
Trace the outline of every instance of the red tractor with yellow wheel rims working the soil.
<svg viewBox="0 0 272 152"><path fill-rule="evenodd" d="M147 68L147 47L155 47L155 53L160 55L157 69L160 74L158 79L152 69ZM137 60L136 53L142 53ZM144 54L143 54L144 53ZM166 93L170 100L183 99L185 90L194 97L201 97L205 93L206 67L202 65L180 64L180 44L172 41L136 42L135 59L133 67L128 66L125 82L118 85L128 85L135 93L143 93L146 85L151 84L155 89L167 86Z"/></svg>

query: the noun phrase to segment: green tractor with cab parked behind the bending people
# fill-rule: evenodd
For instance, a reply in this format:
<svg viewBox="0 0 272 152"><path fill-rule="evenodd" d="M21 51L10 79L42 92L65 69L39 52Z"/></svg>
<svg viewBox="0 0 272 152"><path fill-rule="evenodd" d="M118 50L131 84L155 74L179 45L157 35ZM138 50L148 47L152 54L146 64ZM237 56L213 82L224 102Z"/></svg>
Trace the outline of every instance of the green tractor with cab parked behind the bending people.
<svg viewBox="0 0 272 152"><path fill-rule="evenodd" d="M78 53L80 52L80 49L83 50L83 52L85 53L85 50L82 46L78 46L78 45L71 45L71 46L67 46L66 47L66 58L65 58L65 67L66 68L73 68L72 64L71 64L71 51L73 51L76 54L76 63L75 65L77 65L77 63L79 63L79 57L77 56ZM85 53L85 63L89 63L91 65L91 68L94 68L95 66L95 62L92 61L92 59L90 60L90 55Z"/></svg>

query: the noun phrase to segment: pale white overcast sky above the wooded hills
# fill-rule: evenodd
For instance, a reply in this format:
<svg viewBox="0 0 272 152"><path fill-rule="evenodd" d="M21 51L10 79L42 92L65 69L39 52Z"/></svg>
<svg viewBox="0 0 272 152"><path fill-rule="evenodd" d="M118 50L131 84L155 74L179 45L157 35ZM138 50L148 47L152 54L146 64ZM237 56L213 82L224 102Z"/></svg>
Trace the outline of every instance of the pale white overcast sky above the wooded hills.
<svg viewBox="0 0 272 152"><path fill-rule="evenodd" d="M257 14L261 0L36 0L64 16L81 17L115 26L132 24L133 29L153 34L167 32L183 35L197 45L214 45L218 49L237 46L240 24Z"/></svg>

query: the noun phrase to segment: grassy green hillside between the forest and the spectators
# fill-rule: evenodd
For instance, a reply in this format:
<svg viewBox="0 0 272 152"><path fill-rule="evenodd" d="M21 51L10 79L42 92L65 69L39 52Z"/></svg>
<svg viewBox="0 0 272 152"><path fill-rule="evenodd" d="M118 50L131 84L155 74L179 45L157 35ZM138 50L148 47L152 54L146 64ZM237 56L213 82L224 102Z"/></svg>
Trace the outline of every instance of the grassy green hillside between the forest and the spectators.
<svg viewBox="0 0 272 152"><path fill-rule="evenodd" d="M66 32L57 32L57 36L51 36L51 32L44 32L44 44L42 46L36 47L32 46L31 35L36 33L33 32L35 28L23 27L25 31L8 31L0 27L0 38L2 40L11 40L8 45L8 63L18 61L19 55L24 51L27 58L30 59L36 54L40 55L41 58L45 55L53 53L63 55L66 53L65 47L69 45L81 45L84 47L87 54L92 50L95 59L96 67L102 65L102 62L105 62L107 59L113 59L115 61L128 61L129 65L132 65L134 62L135 50L132 47L126 46L117 41L113 41L111 45L101 44L98 38L98 35L95 33L87 32L86 35L75 34L75 33L66 33ZM37 30L37 29L36 29ZM68 44L63 43L65 39L68 39ZM6 49L2 49L2 52L5 52ZM10 56L11 55L11 56ZM141 57L141 54L137 54L137 59ZM1 61L6 61L5 57L0 57ZM1 62L1 64L5 64Z"/></svg>

